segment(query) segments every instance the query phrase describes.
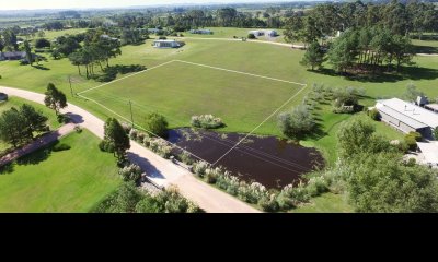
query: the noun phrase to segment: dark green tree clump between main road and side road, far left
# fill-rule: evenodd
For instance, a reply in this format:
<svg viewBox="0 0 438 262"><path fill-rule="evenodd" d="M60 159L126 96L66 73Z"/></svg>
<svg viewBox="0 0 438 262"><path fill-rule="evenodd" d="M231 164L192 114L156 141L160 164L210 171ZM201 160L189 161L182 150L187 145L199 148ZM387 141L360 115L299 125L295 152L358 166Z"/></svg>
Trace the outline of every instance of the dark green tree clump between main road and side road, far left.
<svg viewBox="0 0 438 262"><path fill-rule="evenodd" d="M0 116L0 139L18 147L32 141L35 133L47 132L47 120L31 105L24 104L20 109L12 107Z"/></svg>

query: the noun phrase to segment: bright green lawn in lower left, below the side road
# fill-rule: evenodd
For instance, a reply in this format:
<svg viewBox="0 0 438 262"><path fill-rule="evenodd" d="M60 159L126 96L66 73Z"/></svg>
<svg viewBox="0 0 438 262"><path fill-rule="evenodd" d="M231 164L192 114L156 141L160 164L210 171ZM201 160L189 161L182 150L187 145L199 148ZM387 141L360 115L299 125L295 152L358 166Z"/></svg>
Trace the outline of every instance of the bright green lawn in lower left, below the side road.
<svg viewBox="0 0 438 262"><path fill-rule="evenodd" d="M117 188L115 158L96 136L83 130L60 142L71 150L43 150L3 169L0 212L88 212Z"/></svg>

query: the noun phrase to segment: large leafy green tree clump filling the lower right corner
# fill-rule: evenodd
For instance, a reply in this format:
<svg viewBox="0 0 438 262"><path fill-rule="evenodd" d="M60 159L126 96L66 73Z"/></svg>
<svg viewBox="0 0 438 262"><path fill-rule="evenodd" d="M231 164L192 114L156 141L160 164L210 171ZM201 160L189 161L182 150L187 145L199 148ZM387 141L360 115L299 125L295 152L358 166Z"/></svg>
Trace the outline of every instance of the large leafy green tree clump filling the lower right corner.
<svg viewBox="0 0 438 262"><path fill-rule="evenodd" d="M403 153L354 118L338 131L339 162L326 171L357 212L437 212L437 171L405 163Z"/></svg>

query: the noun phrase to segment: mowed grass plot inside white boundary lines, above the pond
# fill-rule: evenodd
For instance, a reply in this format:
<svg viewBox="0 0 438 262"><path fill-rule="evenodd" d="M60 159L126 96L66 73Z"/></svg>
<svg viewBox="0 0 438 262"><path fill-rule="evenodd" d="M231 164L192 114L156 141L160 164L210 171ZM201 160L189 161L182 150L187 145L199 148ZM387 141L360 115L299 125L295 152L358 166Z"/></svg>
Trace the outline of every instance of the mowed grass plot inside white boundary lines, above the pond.
<svg viewBox="0 0 438 262"><path fill-rule="evenodd" d="M142 126L146 114L164 115L171 127L187 127L192 116L212 114L224 131L250 132L285 105L303 86L173 61L82 95ZM293 100L293 98L291 99ZM277 134L275 121L257 133Z"/></svg>

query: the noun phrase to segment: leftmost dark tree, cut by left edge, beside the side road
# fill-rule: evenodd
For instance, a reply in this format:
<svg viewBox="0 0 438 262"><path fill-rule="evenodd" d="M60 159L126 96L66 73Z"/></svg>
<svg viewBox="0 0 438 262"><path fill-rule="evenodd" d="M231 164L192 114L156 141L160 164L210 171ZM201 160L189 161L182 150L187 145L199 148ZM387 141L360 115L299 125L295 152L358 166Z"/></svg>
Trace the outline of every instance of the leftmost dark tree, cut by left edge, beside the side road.
<svg viewBox="0 0 438 262"><path fill-rule="evenodd" d="M0 116L0 139L13 147L31 139L26 133L25 121L14 107L3 111Z"/></svg>

